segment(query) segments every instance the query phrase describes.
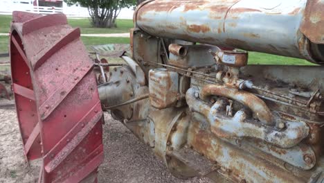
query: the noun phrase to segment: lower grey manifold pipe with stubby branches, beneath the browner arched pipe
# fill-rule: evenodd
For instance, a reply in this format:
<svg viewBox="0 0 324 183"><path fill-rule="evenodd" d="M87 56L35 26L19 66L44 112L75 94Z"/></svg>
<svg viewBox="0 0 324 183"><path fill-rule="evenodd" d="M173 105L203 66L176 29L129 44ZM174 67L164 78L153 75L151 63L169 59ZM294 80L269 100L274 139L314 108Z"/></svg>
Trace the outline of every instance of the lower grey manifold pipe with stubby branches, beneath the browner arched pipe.
<svg viewBox="0 0 324 183"><path fill-rule="evenodd" d="M226 103L219 99L212 107L199 100L198 89L190 88L186 93L186 101L192 112L205 117L210 124L210 130L217 137L225 139L249 137L267 141L280 148L291 148L305 139L309 134L309 127L302 121L284 121L284 129L278 130L269 125L255 123L244 109L237 111L233 116L226 115ZM251 101L253 103L253 101Z"/></svg>

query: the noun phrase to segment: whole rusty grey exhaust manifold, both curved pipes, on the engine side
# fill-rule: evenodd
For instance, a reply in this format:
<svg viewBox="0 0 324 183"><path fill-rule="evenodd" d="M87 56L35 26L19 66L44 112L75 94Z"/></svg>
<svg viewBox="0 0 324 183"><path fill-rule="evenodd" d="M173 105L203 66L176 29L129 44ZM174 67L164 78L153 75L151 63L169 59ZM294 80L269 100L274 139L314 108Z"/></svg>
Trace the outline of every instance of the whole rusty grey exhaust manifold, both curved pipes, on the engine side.
<svg viewBox="0 0 324 183"><path fill-rule="evenodd" d="M204 99L208 96L231 98L249 107L259 120L249 117L249 112L244 109L238 110L233 116L227 116L227 100L219 98L210 106L210 104L199 99L199 96ZM309 127L306 123L273 118L271 111L260 98L235 88L206 85L201 89L201 92L199 92L199 89L190 88L186 93L186 101L192 112L197 112L206 118L210 124L211 132L220 138L250 137L266 141L280 148L291 148L309 134ZM253 105L249 105L249 103ZM282 130L276 128L274 124L278 121L285 123L285 128Z"/></svg>

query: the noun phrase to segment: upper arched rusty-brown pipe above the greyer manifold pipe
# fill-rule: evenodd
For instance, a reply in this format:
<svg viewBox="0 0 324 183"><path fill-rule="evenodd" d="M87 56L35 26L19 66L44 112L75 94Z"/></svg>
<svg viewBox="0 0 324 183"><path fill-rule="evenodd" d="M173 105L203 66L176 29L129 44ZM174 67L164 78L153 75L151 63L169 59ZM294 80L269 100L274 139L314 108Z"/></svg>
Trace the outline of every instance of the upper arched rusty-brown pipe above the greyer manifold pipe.
<svg viewBox="0 0 324 183"><path fill-rule="evenodd" d="M249 107L258 116L261 123L266 125L276 125L269 107L260 98L239 89L230 88L222 85L206 85L200 90L200 98L206 100L208 96L224 96L231 98Z"/></svg>

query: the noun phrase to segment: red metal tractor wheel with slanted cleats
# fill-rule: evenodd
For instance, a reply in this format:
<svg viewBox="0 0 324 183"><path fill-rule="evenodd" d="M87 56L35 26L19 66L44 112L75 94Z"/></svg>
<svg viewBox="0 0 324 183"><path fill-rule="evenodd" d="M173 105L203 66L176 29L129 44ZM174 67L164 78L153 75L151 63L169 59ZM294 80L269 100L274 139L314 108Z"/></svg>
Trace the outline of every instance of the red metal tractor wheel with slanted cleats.
<svg viewBox="0 0 324 183"><path fill-rule="evenodd" d="M12 88L24 151L41 182L96 182L102 110L93 63L64 14L13 12Z"/></svg>

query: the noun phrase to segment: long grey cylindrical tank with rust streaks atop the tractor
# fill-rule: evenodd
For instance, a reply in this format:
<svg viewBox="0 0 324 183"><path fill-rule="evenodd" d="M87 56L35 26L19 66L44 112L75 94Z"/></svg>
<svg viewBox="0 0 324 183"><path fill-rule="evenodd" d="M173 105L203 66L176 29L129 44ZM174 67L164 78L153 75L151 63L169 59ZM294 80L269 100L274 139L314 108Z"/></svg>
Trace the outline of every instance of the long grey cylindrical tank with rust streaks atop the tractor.
<svg viewBox="0 0 324 183"><path fill-rule="evenodd" d="M318 41L321 44L309 42L311 32L301 31L309 23L304 21L311 21L304 19L305 11L309 10L305 9L307 3L316 2L155 0L143 3L136 10L134 22L157 37L324 62L323 40ZM324 8L321 2L318 6ZM323 8L316 11L321 13ZM316 19L321 21L323 17ZM316 26L321 31L321 24Z"/></svg>

